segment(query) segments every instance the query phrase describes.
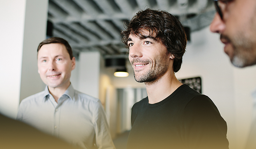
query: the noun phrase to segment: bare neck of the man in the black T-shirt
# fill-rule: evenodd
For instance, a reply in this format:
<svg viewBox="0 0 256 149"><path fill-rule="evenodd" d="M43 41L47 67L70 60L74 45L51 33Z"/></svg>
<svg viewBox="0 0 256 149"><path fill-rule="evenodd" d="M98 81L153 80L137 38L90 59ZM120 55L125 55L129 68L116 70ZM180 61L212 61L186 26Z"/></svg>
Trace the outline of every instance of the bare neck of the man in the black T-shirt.
<svg viewBox="0 0 256 149"><path fill-rule="evenodd" d="M145 85L148 93L148 103L155 104L171 95L182 83L174 73L166 73L157 82L145 82Z"/></svg>

